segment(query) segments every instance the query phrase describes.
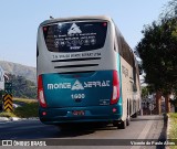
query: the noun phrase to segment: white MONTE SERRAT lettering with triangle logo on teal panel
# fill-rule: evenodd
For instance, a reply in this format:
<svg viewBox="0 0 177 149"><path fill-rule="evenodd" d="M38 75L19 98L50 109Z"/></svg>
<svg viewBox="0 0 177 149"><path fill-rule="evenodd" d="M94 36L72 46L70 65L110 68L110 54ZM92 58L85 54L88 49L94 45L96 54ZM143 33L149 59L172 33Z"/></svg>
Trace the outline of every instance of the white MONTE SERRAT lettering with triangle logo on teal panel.
<svg viewBox="0 0 177 149"><path fill-rule="evenodd" d="M107 87L110 86L110 81L96 81L96 82L84 82L75 81L74 84L71 83L55 83L48 84L48 89L71 89L71 91L83 91L84 88L92 87Z"/></svg>

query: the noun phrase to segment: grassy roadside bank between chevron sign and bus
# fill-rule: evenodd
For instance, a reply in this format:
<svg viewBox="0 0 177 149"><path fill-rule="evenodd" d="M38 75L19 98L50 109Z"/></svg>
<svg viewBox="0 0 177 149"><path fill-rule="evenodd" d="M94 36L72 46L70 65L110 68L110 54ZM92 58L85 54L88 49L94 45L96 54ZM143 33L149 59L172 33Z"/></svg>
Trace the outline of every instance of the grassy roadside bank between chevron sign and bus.
<svg viewBox="0 0 177 149"><path fill-rule="evenodd" d="M37 99L24 99L24 98L13 98L13 102L21 104L21 107L14 108L11 113L0 113L0 117L38 117L38 100Z"/></svg>

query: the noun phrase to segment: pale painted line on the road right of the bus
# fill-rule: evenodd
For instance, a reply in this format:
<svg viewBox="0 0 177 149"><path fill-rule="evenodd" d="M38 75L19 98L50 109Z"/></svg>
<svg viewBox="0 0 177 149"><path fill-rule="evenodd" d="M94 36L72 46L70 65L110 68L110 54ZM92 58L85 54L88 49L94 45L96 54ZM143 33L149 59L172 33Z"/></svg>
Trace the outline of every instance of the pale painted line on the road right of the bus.
<svg viewBox="0 0 177 149"><path fill-rule="evenodd" d="M146 136L149 132L149 129L150 129L153 123L154 123L153 119L147 121L146 126L144 127L143 131L140 132L139 137L137 138L137 141L139 139L146 139ZM142 148L140 146L133 146L131 149L140 149L140 148Z"/></svg>

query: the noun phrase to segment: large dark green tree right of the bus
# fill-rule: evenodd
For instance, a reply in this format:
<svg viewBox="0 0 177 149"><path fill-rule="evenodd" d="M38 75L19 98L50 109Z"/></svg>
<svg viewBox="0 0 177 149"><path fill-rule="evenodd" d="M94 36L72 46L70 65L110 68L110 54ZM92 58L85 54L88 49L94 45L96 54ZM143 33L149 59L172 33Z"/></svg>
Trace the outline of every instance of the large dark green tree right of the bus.
<svg viewBox="0 0 177 149"><path fill-rule="evenodd" d="M146 25L136 51L143 61L145 82L164 94L169 111L169 94L177 88L177 19L168 18Z"/></svg>

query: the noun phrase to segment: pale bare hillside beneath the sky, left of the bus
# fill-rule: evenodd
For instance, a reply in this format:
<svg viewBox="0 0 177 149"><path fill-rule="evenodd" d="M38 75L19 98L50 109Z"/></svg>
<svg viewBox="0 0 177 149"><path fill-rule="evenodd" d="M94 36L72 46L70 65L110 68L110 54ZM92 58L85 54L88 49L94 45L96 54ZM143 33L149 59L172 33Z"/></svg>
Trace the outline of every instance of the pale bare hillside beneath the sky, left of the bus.
<svg viewBox="0 0 177 149"><path fill-rule="evenodd" d="M7 74L13 74L15 76L23 76L27 79L37 83L37 68L32 66L25 66L12 62L0 61L0 66Z"/></svg>

